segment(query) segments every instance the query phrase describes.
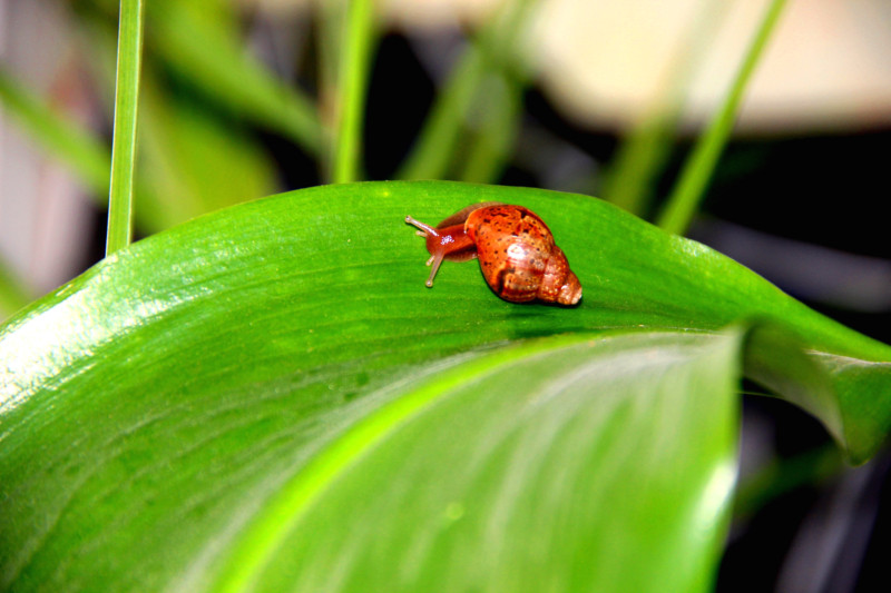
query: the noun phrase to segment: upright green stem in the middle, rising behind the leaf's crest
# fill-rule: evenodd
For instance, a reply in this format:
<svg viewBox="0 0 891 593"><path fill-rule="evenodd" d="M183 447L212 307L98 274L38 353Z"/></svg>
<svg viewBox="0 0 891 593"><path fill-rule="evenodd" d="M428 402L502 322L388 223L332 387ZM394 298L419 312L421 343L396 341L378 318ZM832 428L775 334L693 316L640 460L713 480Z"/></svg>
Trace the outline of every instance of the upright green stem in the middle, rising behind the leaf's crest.
<svg viewBox="0 0 891 593"><path fill-rule="evenodd" d="M371 0L352 0L346 11L345 47L340 60L333 181L360 178L362 125L371 66L374 11Z"/></svg>

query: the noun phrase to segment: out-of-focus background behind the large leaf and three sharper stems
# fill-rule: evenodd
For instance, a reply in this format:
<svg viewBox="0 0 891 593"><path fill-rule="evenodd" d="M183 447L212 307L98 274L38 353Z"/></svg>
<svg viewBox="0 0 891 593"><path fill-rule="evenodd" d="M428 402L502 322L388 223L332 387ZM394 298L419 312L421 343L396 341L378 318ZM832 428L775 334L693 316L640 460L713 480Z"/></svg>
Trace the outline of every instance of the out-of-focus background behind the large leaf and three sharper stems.
<svg viewBox="0 0 891 593"><path fill-rule="evenodd" d="M380 0L365 178L578 191L653 220L767 3ZM146 4L138 236L329 180L340 0ZM0 0L0 318L104 255L117 9ZM891 343L889 157L891 2L790 0L689 236ZM800 411L744 406L717 590L884 591L888 454L849 468Z"/></svg>

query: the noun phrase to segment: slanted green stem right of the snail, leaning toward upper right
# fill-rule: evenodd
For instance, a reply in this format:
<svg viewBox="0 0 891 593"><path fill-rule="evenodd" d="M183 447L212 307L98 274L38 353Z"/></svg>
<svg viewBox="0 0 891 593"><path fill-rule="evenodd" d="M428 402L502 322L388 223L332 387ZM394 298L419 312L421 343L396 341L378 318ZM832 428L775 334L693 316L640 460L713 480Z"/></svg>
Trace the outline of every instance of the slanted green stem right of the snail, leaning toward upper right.
<svg viewBox="0 0 891 593"><path fill-rule="evenodd" d="M687 230L705 192L708 179L717 165L718 157L733 131L734 120L740 110L746 85L767 46L767 40L780 20L785 3L786 0L773 0L767 7L758 31L752 40L721 109L708 123L705 135L699 138L693 155L687 159L681 178L668 197L667 206L657 221L668 233L681 235Z"/></svg>

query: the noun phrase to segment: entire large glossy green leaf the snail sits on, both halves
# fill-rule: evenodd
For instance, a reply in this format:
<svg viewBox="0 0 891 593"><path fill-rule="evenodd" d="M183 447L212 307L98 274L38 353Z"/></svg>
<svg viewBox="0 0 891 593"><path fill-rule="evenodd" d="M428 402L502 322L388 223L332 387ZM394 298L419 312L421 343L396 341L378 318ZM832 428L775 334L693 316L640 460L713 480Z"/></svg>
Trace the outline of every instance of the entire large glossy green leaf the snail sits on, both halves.
<svg viewBox="0 0 891 593"><path fill-rule="evenodd" d="M404 216L435 223L486 200L523 204L548 221L585 286L580 306L505 303L474 263L447 264L432 289L423 286L423 241ZM754 325L741 352L719 329L745 320ZM648 333L586 346L607 329ZM330 575L339 559L353 576L337 583L355 589L350 579L384 579L375 563L412 551L422 560L400 564L414 571L405 582L444 579L476 559L468 570L515 566L535 591L572 579L627 584L572 572L581 562L572 554L587 562L586 550L610 550L599 537L627 537L614 551L630 563L623 570L695 589L707 581L703 546L715 545L724 508L704 503L730 487L708 476L727 473L734 419L718 394L738 378L738 360L817 415L853 461L879 446L891 407L887 346L702 245L594 198L432 181L312 188L153 236L16 315L0 328L0 589L21 590L199 590L242 579L275 590L288 575L312 582L316 566ZM550 392L561 395L542 402L538 424L523 406ZM629 419L610 407L648 405L659 413ZM578 425L554 421L567 408ZM548 448L549 427L568 441ZM674 480L658 477L654 443L677 463L666 470ZM550 473L564 458L577 461L574 475ZM588 466L599 473L579 475ZM652 488L635 486L648 476ZM585 494L547 490L559 480ZM558 490L565 500L551 498ZM585 504L600 497L616 507ZM442 521L467 524L429 540L418 513L447 500ZM692 501L714 518L698 543L677 535L697 524ZM529 554L544 552L530 535L540 527L531 504L544 505L542 517L568 513L542 542L568 537L572 557L538 564L557 576L533 571ZM404 522L403 507L412 511ZM593 508L616 512L600 535L611 518L588 517ZM652 538L634 523L647 508L666 513ZM629 521L639 528L628 532ZM382 530L402 547L364 548ZM509 562L488 565L471 544L498 533L512 537L500 541ZM528 545L513 546L518 538ZM663 540L675 556L623 556ZM317 550L304 547L315 541ZM447 557L428 563L431 550ZM456 582L466 590L471 581Z"/></svg>

